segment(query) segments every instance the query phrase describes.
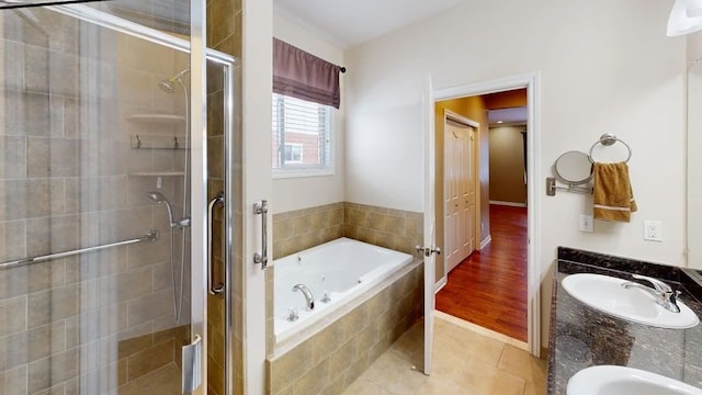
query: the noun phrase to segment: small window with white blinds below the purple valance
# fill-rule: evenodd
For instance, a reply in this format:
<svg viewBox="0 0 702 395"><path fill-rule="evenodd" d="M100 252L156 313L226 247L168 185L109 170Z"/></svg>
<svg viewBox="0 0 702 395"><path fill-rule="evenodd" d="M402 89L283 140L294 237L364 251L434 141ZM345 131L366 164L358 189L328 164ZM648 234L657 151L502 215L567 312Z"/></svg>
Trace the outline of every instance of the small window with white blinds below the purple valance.
<svg viewBox="0 0 702 395"><path fill-rule="evenodd" d="M273 93L273 176L333 172L331 108Z"/></svg>

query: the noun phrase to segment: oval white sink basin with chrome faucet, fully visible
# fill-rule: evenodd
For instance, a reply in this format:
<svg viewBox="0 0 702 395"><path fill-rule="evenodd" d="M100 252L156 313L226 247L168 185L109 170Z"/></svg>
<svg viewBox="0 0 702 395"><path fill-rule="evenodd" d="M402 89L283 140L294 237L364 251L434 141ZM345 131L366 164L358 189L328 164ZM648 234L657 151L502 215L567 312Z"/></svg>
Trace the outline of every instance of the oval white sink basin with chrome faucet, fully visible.
<svg viewBox="0 0 702 395"><path fill-rule="evenodd" d="M680 300L680 313L659 306L653 295L636 287L624 289L627 280L609 275L578 273L563 279L563 287L570 296L602 313L637 324L659 328L684 329L700 323L697 314Z"/></svg>

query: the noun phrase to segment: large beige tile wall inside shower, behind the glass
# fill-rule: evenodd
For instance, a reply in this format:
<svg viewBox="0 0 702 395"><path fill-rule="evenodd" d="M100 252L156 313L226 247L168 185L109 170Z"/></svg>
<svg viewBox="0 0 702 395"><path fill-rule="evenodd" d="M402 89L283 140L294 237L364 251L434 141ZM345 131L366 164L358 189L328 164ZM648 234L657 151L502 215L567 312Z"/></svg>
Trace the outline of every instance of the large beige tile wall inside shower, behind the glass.
<svg viewBox="0 0 702 395"><path fill-rule="evenodd" d="M37 23L0 15L0 261L152 228L161 238L0 270L0 393L103 393L173 363L185 337L173 318L166 211L147 198L156 179L134 176L179 169L183 150L129 144L132 134L172 136L183 125L128 116L182 114L182 97L156 82L188 56L45 9L32 14ZM163 178L179 211L177 187Z"/></svg>

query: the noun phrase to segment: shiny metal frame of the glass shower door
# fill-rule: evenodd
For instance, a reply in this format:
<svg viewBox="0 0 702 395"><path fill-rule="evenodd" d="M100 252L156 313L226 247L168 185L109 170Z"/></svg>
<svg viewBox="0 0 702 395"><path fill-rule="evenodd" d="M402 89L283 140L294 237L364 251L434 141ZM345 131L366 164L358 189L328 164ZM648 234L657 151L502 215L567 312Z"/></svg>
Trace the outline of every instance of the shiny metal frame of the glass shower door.
<svg viewBox="0 0 702 395"><path fill-rule="evenodd" d="M66 16L75 18L88 23L103 26L111 31L138 37L154 44L166 46L190 54L190 83L191 83L191 340L202 338L203 361L201 361L202 391L207 388L207 257L206 232L207 222L207 92L206 70L207 61L215 61L226 68L225 71L225 393L230 393L234 383L233 358L234 338L233 323L233 290L235 274L233 266L233 229L234 229L234 70L236 58L231 55L207 48L205 45L206 14L204 1L190 0L191 12L191 40L183 40L158 30L124 20L101 10L83 4L46 5L46 9ZM195 237L193 235L200 235ZM195 259L200 257L200 259ZM197 266L195 266L197 263ZM192 270L193 268L197 270ZM195 292L196 291L196 292Z"/></svg>

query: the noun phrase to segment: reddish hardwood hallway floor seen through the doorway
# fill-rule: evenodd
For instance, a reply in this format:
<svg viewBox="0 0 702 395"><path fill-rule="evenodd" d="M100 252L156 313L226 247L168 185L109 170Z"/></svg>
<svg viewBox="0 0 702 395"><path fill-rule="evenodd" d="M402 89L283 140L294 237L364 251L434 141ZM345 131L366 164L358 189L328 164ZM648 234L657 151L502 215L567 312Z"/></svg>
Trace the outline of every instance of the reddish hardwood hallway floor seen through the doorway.
<svg viewBox="0 0 702 395"><path fill-rule="evenodd" d="M437 309L526 341L526 208L491 204L490 235L449 273Z"/></svg>

